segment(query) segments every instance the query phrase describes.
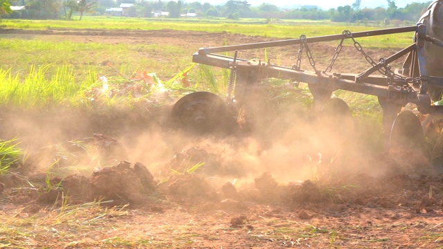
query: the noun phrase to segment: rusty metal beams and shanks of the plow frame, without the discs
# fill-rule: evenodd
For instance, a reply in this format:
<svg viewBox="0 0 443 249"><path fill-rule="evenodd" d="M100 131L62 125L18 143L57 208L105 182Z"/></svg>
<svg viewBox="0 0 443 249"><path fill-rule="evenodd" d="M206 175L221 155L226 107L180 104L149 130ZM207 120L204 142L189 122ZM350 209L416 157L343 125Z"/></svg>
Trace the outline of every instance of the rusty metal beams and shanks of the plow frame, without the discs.
<svg viewBox="0 0 443 249"><path fill-rule="evenodd" d="M271 48L314 42L329 42L334 40L406 32L415 32L415 42L413 44L386 59L382 59L381 62L377 64L372 62L370 68L359 74L332 74L325 71L301 71L300 68L278 66L271 64L271 62L237 58L237 53L235 53L235 57L217 54L254 48ZM254 84L257 80L266 77L278 77L281 79L291 79L297 82L307 83L311 93L314 95L314 107L316 106L316 100L324 102L324 100L329 98L333 91L343 89L345 91L378 96L381 107L383 108L383 115L392 112L389 110L394 110L393 113L395 113L395 110L401 109L401 107L408 102L417 104L418 110L421 113L443 115L443 106L433 106L431 104L431 98L427 93L428 86L443 88L443 77L427 75L426 62L424 59L425 42L432 42L437 46L440 46L440 44L443 46L443 42L440 40L426 37L426 26L423 24L417 24L417 26L403 28L388 28L352 33L352 35L343 33L341 35L327 35L309 38L300 37L300 39L287 39L275 42L200 48L197 53L193 55L192 61L220 68L230 68L231 71L235 71L235 97L233 98L236 98L236 100L241 98L242 94L245 92L245 87ZM360 46L358 43L355 44ZM359 50L357 46L356 48ZM418 77L411 78L398 73L389 73L389 75L372 75L372 73L379 71L381 68L387 68L389 63L394 62L408 53L415 53L415 59L417 60L419 69ZM402 70L400 70L400 72L401 71Z"/></svg>

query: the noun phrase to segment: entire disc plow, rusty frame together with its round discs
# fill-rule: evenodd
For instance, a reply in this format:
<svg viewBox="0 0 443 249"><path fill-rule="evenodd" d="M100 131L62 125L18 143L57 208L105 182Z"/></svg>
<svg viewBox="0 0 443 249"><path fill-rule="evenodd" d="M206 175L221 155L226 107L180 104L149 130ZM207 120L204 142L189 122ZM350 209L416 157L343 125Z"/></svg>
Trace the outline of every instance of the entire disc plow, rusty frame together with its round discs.
<svg viewBox="0 0 443 249"><path fill-rule="evenodd" d="M241 107L242 103L251 100L248 93L251 87L266 78L278 78L291 82L306 83L314 98L314 111L332 113L331 117L348 115L349 107L343 100L330 99L336 90L377 96L383 109L383 130L391 146L404 145L408 142L422 142L424 132L418 118L411 111L401 112L408 103L415 104L417 111L430 116L443 114L443 106L433 104L440 100L443 93L443 75L435 75L428 70L428 57L432 56L427 49L442 50L443 42L437 37L428 35L425 24L401 28L387 28L351 33L348 30L338 35L285 39L275 42L259 42L233 46L200 48L192 57L192 61L226 68L230 70L226 101L212 93L191 93L177 102L173 115L187 127L213 127L219 118L226 117L222 103L228 107ZM413 43L397 53L374 61L358 38L398 33L412 33ZM352 40L358 53L365 58L370 66L359 73L332 72L334 62L341 52L343 41ZM311 44L337 41L338 46L325 70L319 70L311 55ZM430 45L429 45L430 44ZM238 55L243 50L272 48L281 46L299 46L298 58L294 65L280 66L270 60L244 59ZM426 49L425 49L426 48ZM227 56L228 53L233 56ZM437 53L435 53L437 54ZM310 69L301 68L301 57L309 59ZM406 57L406 59L404 59ZM390 64L404 59L401 68L391 68ZM443 64L440 65L443 71ZM188 112L187 115L183 113ZM189 113L191 113L189 115ZM193 113L193 114L192 114ZM214 115L214 113L218 113ZM190 116L192 118L190 118ZM186 117L186 118L184 118ZM406 142L407 143L407 142Z"/></svg>

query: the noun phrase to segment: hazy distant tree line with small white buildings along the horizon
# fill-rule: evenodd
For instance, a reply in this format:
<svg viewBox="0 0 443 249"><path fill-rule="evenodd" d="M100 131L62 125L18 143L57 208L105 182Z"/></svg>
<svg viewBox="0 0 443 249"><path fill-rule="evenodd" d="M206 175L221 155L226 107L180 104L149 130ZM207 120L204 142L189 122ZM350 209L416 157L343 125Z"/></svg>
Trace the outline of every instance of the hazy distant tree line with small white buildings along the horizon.
<svg viewBox="0 0 443 249"><path fill-rule="evenodd" d="M431 3L410 3L398 8L395 0L387 0L387 8L361 8L361 0L352 6L339 6L322 10L313 6L300 8L279 8L271 3L251 6L246 0L229 0L224 4L213 6L199 1L147 1L147 0L0 0L0 16L23 19L72 19L73 13L83 15L106 15L107 8L120 6L120 3L134 3L129 8L129 17L153 17L154 12L169 12L171 18L181 14L195 13L198 17L224 17L228 19L261 18L271 19L310 19L331 20L336 22L416 22ZM27 6L21 12L7 11L5 6Z"/></svg>

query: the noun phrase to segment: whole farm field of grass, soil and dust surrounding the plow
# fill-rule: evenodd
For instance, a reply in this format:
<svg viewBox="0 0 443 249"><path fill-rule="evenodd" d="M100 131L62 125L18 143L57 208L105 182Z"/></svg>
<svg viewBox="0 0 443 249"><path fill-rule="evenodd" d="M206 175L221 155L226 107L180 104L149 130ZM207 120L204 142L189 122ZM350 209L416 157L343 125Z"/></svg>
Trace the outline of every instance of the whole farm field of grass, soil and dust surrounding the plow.
<svg viewBox="0 0 443 249"><path fill-rule="evenodd" d="M389 154L377 98L336 91L354 129L335 133L309 110L305 84L276 79L254 90L249 129L196 136L170 120L187 93L226 95L229 72L193 64L199 48L375 27L0 24L0 247L443 248L437 123L423 153ZM359 42L377 61L412 35ZM311 46L318 68L337 44ZM298 46L239 56L290 66ZM334 71L365 68L345 41Z"/></svg>

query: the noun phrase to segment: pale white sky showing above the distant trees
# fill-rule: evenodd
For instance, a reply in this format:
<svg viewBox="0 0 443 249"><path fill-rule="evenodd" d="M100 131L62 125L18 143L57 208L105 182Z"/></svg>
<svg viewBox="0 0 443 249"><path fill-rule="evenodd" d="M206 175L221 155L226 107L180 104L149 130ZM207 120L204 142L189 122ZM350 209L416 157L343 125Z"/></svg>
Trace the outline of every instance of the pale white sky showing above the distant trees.
<svg viewBox="0 0 443 249"><path fill-rule="evenodd" d="M191 0L188 0L188 2ZM208 2L212 5L221 5L226 3L228 0L200 0L202 3ZM260 6L262 3L271 3L275 6L318 6L319 8L322 8L324 10L329 10L330 8L337 8L338 6L352 6L352 3L355 2L355 0L246 0L248 3L250 3L252 6ZM394 0L395 5L399 8L404 8L408 3L424 3L428 2L423 0ZM377 8L377 7L388 7L388 1L386 0L361 0L361 8Z"/></svg>

